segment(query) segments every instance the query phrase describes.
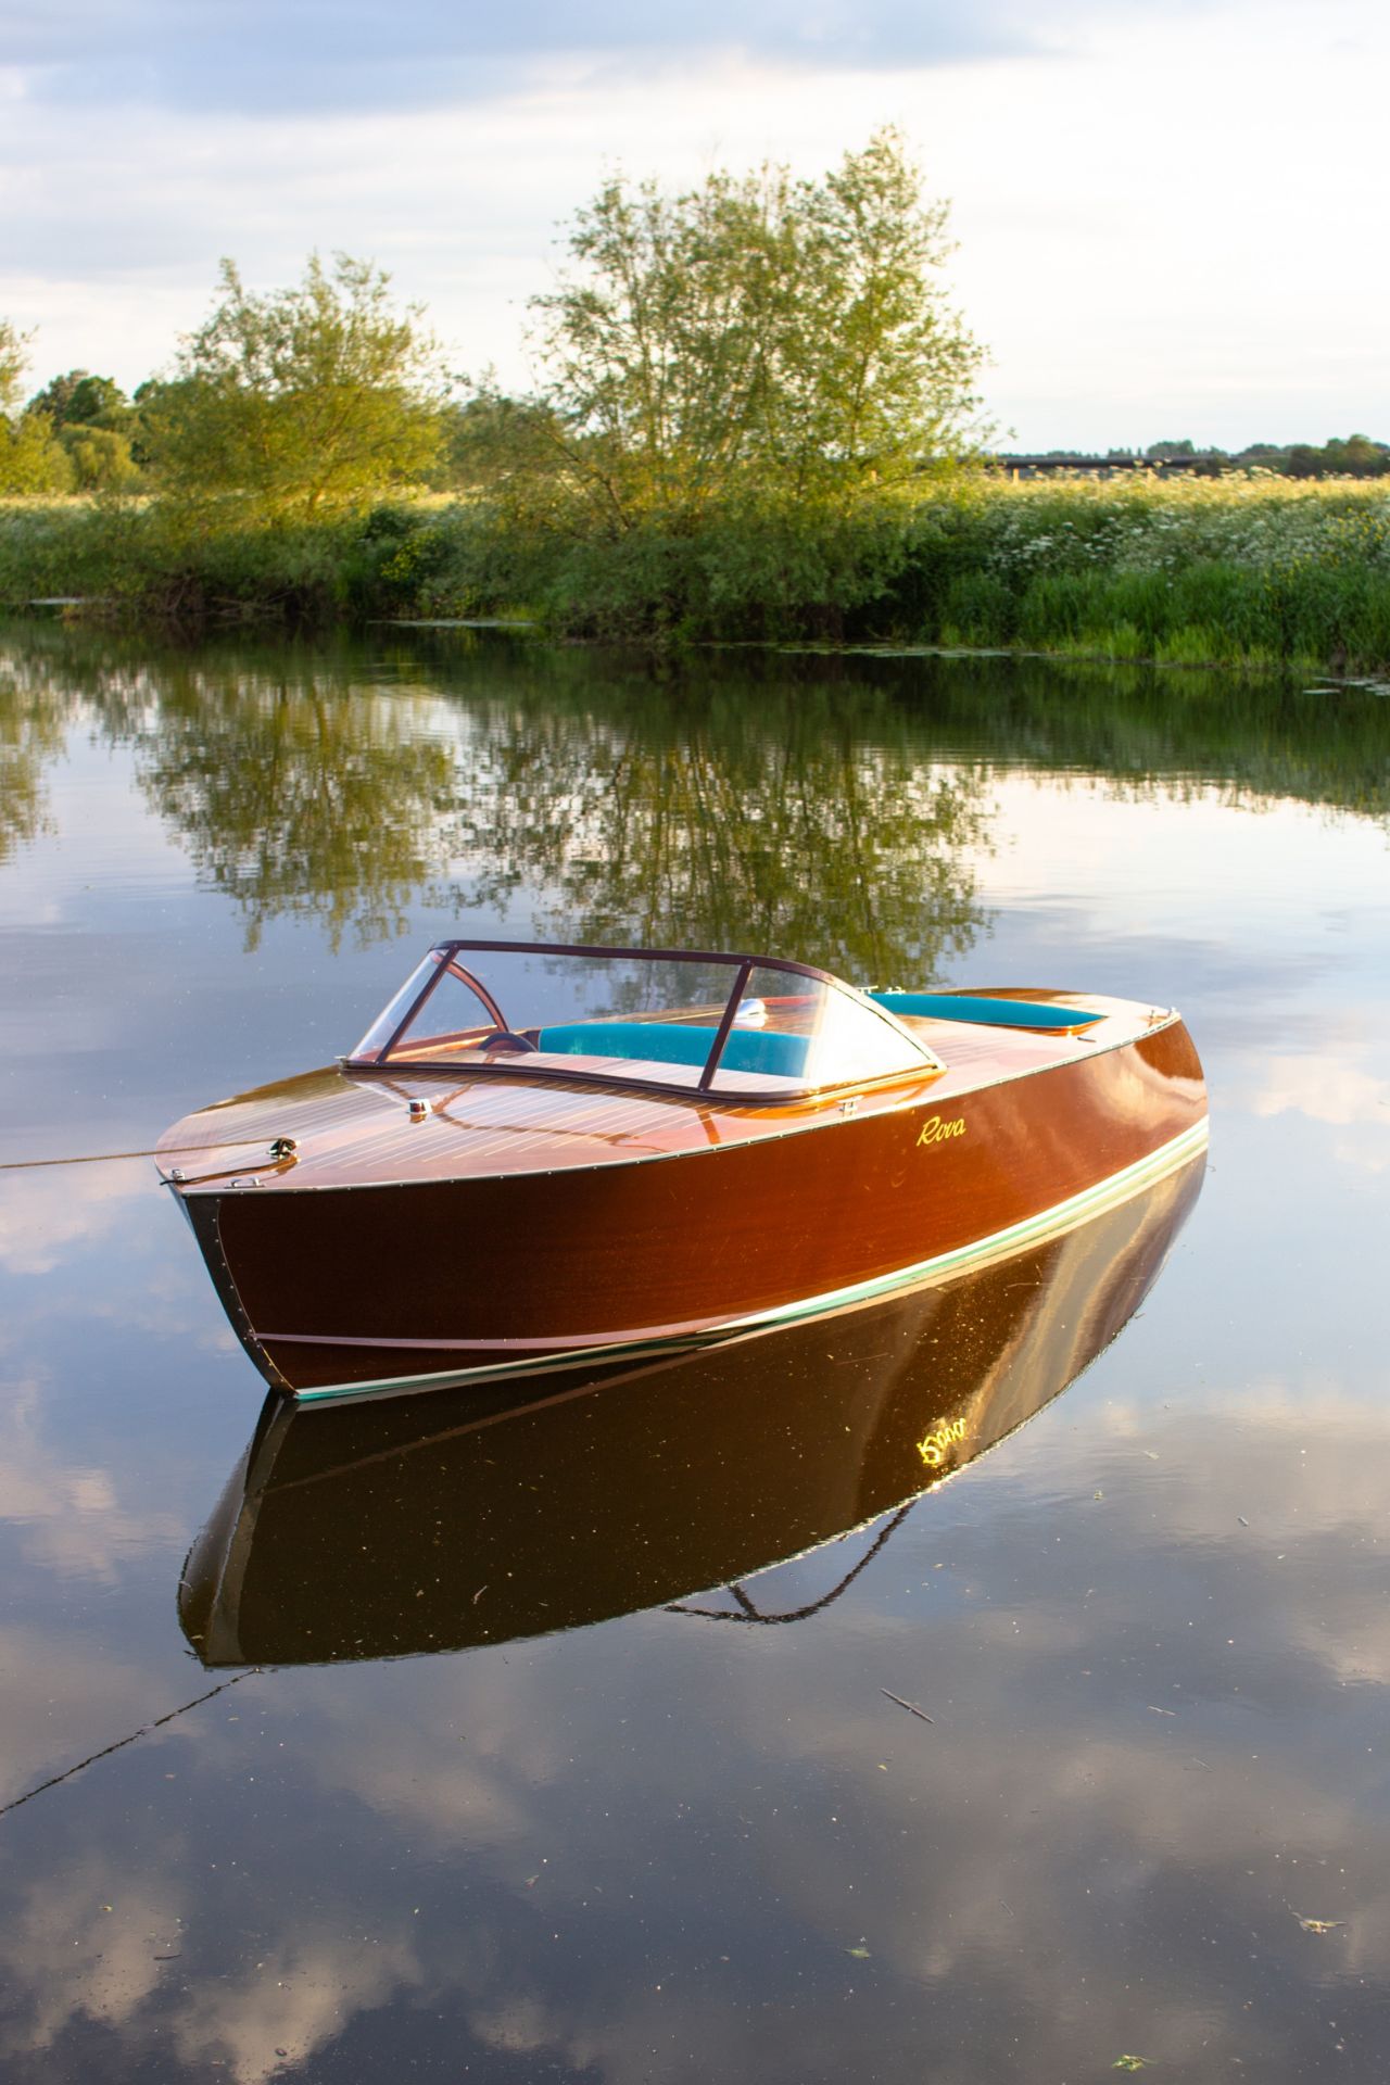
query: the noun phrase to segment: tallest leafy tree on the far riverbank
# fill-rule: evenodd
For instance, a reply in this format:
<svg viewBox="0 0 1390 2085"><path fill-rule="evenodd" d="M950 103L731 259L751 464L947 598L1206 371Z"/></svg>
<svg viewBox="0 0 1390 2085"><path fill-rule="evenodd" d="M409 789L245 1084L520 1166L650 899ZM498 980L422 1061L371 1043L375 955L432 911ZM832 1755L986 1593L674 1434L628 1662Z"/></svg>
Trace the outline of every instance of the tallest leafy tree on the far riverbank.
<svg viewBox="0 0 1390 2085"><path fill-rule="evenodd" d="M946 304L946 204L894 129L819 181L615 175L533 298L536 461L611 528L713 498L852 505L959 452L982 350Z"/></svg>

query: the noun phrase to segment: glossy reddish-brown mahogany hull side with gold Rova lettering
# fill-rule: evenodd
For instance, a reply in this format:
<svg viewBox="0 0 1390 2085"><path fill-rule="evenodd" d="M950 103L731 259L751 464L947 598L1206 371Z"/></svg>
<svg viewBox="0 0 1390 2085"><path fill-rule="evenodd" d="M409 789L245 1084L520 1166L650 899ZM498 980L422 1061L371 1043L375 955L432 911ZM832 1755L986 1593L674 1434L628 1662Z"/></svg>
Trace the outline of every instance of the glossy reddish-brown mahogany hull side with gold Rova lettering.
<svg viewBox="0 0 1390 2085"><path fill-rule="evenodd" d="M727 1334L1069 1222L1202 1132L1180 1020L952 1097L554 1172L279 1182L185 1207L273 1384L398 1389Z"/></svg>

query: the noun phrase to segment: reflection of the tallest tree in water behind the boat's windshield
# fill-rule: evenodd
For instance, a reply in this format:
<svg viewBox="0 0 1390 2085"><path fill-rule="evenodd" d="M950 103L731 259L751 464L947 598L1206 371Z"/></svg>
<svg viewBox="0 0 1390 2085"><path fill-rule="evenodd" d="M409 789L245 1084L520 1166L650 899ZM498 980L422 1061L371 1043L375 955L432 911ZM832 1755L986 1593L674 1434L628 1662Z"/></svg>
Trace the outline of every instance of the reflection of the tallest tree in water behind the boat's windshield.
<svg viewBox="0 0 1390 2085"><path fill-rule="evenodd" d="M719 663L627 671L581 703L529 676L477 734L461 799L475 903L519 888L563 938L765 949L850 978L927 978L982 924L984 778L938 765L911 713L846 676Z"/></svg>

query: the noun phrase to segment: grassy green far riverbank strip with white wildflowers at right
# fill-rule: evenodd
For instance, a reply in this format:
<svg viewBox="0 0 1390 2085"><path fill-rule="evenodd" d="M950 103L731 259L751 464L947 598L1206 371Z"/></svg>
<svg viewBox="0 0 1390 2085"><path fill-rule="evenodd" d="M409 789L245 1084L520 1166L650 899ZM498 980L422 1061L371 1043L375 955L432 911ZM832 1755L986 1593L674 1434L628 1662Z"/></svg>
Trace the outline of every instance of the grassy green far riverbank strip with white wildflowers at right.
<svg viewBox="0 0 1390 2085"><path fill-rule="evenodd" d="M1355 480L921 480L850 517L748 498L617 534L417 498L275 525L163 502L0 507L0 605L185 628L504 615L590 640L994 646L1390 665L1390 494Z"/></svg>

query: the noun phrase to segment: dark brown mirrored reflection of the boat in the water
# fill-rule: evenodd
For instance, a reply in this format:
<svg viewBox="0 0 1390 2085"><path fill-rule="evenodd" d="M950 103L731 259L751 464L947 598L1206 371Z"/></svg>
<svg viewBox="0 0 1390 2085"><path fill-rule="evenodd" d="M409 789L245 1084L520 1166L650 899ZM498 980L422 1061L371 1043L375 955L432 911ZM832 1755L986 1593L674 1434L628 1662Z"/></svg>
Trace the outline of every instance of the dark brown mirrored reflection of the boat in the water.
<svg viewBox="0 0 1390 2085"><path fill-rule="evenodd" d="M452 1651L673 1603L865 1526L1115 1339L1202 1170L954 1280L625 1372L329 1409L271 1393L190 1551L183 1630L204 1666Z"/></svg>

